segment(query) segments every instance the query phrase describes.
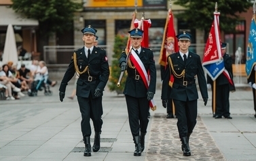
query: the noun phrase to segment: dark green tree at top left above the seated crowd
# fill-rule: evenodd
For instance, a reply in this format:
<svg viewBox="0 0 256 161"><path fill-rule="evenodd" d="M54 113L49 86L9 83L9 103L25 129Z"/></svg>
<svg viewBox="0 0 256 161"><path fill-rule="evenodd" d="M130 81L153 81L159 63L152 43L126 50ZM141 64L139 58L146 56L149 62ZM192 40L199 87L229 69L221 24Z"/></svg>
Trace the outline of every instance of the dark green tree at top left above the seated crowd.
<svg viewBox="0 0 256 161"><path fill-rule="evenodd" d="M82 8L81 3L72 0L12 0L12 9L24 18L39 22L39 50L48 45L53 32L63 32L73 26L73 14Z"/></svg>

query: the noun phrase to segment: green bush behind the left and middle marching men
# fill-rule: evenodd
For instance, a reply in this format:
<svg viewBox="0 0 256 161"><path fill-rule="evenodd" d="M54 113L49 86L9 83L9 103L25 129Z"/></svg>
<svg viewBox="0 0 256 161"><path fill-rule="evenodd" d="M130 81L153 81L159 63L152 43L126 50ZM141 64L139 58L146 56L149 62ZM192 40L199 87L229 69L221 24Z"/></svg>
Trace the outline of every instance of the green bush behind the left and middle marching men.
<svg viewBox="0 0 256 161"><path fill-rule="evenodd" d="M126 83L126 72L124 73L124 76L122 78L122 81L120 83L120 87L117 87L117 82L120 77L120 66L119 66L119 58L121 57L122 50L126 48L128 37L123 37L121 35L115 36L115 44L113 48L113 60L111 65L111 73L109 77L109 90L110 91L116 91L117 94L122 93L124 91L124 85Z"/></svg>

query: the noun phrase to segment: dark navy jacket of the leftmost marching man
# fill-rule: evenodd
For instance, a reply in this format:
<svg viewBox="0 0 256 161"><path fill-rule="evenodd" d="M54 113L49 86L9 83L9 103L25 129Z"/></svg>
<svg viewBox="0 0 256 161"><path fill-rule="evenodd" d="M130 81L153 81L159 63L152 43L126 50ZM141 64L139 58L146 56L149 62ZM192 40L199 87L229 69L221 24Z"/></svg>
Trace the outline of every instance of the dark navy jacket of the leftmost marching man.
<svg viewBox="0 0 256 161"><path fill-rule="evenodd" d="M93 48L90 54L90 60L86 57L84 47L74 51L77 57L77 66L79 72L82 72L86 66L88 66L88 71L90 76L93 77L92 81L88 81L88 71L84 74L81 74L77 80L77 96L79 97L89 97L92 93L94 98L94 91L96 88L104 90L107 80L109 80L109 63L107 61L106 51L100 47ZM74 60L72 59L69 68L65 72L64 77L60 85L59 91L65 92L66 86L68 85L69 80L73 78L75 74ZM100 95L101 97L102 95Z"/></svg>

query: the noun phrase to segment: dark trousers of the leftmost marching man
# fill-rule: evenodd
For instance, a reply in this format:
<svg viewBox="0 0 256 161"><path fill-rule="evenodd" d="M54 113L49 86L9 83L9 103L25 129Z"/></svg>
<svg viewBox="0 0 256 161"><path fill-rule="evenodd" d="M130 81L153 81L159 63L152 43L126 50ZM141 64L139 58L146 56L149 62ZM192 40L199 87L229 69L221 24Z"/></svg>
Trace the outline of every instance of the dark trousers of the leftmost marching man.
<svg viewBox="0 0 256 161"><path fill-rule="evenodd" d="M89 98L77 96L81 112L81 133L83 137L89 137L92 133L90 118L92 118L94 131L101 132L101 127L103 125L103 120L101 119L101 116L103 115L102 100L102 97L92 99L91 94Z"/></svg>

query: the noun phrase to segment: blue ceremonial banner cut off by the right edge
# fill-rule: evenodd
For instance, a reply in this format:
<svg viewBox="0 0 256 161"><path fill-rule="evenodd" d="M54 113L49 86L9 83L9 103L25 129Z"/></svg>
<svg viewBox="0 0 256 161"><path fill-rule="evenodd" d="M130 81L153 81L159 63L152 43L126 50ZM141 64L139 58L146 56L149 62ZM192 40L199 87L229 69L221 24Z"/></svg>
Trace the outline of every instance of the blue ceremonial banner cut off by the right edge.
<svg viewBox="0 0 256 161"><path fill-rule="evenodd" d="M255 24L255 15L251 20L251 28L249 33L249 40L247 45L247 53L246 53L246 63L245 63L245 71L247 78L249 78L251 71L253 70L253 66L256 64L256 24Z"/></svg>

